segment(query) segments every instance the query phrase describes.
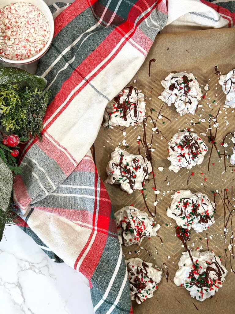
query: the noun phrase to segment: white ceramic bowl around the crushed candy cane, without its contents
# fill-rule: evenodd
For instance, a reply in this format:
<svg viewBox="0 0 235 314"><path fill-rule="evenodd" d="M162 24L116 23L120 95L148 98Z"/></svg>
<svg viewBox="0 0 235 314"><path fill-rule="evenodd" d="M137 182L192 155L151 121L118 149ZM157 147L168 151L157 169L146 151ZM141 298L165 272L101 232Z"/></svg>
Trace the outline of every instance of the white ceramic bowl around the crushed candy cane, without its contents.
<svg viewBox="0 0 235 314"><path fill-rule="evenodd" d="M7 59L7 58L4 58L3 56L1 56L1 58L9 64L14 64L14 65L29 64L29 63L32 63L32 62L39 60L50 48L50 45L51 45L52 39L53 39L53 35L54 35L54 20L53 20L53 16L50 12L49 7L47 6L47 4L43 0L0 0L0 8L4 8L5 6L12 4L12 3L16 3L16 2L31 3L31 4L35 5L35 7L39 8L39 10L47 18L48 24L49 24L49 31L50 31L49 39L46 43L46 46L37 55L35 55L34 57L31 57L31 58L19 60L19 61L10 60L10 59Z"/></svg>

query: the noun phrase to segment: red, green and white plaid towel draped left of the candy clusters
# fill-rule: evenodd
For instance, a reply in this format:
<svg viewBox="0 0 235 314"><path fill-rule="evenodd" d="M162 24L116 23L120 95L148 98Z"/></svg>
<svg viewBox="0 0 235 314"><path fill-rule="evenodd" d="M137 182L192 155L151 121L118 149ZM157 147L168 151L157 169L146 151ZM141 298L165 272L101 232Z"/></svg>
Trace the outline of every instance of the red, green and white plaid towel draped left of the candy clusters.
<svg viewBox="0 0 235 314"><path fill-rule="evenodd" d="M110 199L88 149L110 101L134 76L167 20L161 0L76 0L50 6L55 34L36 74L52 101L43 141L21 151L19 226L55 262L90 282L96 313L132 313ZM84 157L85 156L85 157Z"/></svg>

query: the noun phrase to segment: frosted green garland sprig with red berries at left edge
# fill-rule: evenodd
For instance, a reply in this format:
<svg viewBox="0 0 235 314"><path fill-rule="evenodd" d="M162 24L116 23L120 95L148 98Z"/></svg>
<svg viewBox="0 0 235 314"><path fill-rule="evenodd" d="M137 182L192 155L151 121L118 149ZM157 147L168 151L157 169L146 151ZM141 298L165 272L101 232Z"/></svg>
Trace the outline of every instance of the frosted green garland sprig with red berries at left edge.
<svg viewBox="0 0 235 314"><path fill-rule="evenodd" d="M42 140L43 117L51 97L46 84L44 78L22 69L0 67L0 241L5 222L14 222L16 216L11 193L13 175L21 173L17 145L32 138ZM6 133L17 142L11 144Z"/></svg>

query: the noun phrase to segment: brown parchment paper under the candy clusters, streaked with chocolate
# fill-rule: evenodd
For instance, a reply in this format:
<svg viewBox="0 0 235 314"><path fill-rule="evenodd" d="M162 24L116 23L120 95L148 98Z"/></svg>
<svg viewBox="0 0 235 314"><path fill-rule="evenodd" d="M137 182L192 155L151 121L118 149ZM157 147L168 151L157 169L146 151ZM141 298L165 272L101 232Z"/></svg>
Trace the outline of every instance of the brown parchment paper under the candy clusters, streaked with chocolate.
<svg viewBox="0 0 235 314"><path fill-rule="evenodd" d="M155 151L152 152L155 178L157 181L157 189L160 190L158 195L156 222L161 225L158 234L163 240L163 246L159 237L152 237L144 239L141 243L142 249L133 245L130 247L123 246L123 253L125 258L140 257L147 262L157 265L159 268L163 266L164 271L166 268L163 263L166 263L169 271L169 281L167 282L162 274L162 280L159 284L158 291L154 293L154 297L147 299L141 305L137 305L133 302L134 314L142 313L234 313L234 283L235 274L231 272L230 266L230 253L228 252L228 259L226 260L228 274L226 276L223 288L215 294L212 299L207 299L203 302L197 301L191 298L189 292L184 287L177 287L173 283L173 278L176 270L178 269L178 261L181 256L181 252L185 249L181 246L180 240L175 236L175 220L166 216L166 208L170 206L171 197L175 190L189 188L193 192L206 193L213 200L213 193L211 191L227 188L228 195L231 200L231 180L235 177L235 172L232 168L227 168L224 171L224 160L219 159L216 150L213 149L210 173L208 173L208 159L212 144L208 142L207 135L209 135L206 129L208 128L209 114L216 115L219 107L222 113L219 114L218 122L219 127L217 130L216 142L220 152L222 153L222 136L227 132L235 131L234 124L234 110L232 108L223 109L225 95L222 92L222 87L218 84L218 76L215 74L214 66L219 66L218 70L222 74L235 68L235 29L221 29L221 30L200 30L184 33L174 34L159 34L144 62L139 69L137 75L133 78L136 79L136 83L130 82L130 85L136 85L138 89L141 89L146 95L146 115L150 114L150 109L154 108L159 111L163 102L158 99L158 95L163 90L161 86L161 80L164 79L170 72L192 72L197 78L200 85L205 86L209 84L209 91L206 98L201 100L200 104L203 106L197 108L194 116L187 114L180 116L172 105L168 107L164 105L161 113L171 119L171 123L164 117L157 121L157 126L162 132L159 135L154 135L153 146ZM149 77L149 60L155 58L156 62L151 65L151 75ZM209 80L210 79L210 80ZM217 84L217 85L216 85ZM217 89L216 89L217 87ZM112 88L112 86L110 87ZM201 87L202 92L204 88ZM216 94L218 96L216 97ZM151 98L149 100L149 98ZM216 100L215 103L212 103ZM207 104L208 103L208 104ZM216 105L217 103L217 105ZM211 104L211 108L209 108ZM152 112L153 119L157 118L157 112ZM226 117L227 118L224 118ZM199 118L204 118L206 121L195 126L190 125L193 122L198 122ZM226 125L228 120L229 124ZM163 122L165 122L163 124ZM153 126L148 123L147 141L152 134ZM185 128L193 128L199 135L200 133L206 133L206 137L201 135L201 138L205 141L209 147L209 151L205 156L205 159L201 165L193 167L191 170L181 169L178 173L174 173L168 169L170 162L167 160L168 145L171 137L178 131ZM212 127L213 128L213 127ZM143 135L143 126L128 127L125 129L127 133L123 136L123 131L115 127L111 130L101 127L95 142L95 155L96 165L98 173L102 180L107 178L106 165L110 160L110 154L118 146L119 142L122 142L123 138L126 139L128 152L138 154L137 137ZM214 134L215 128L212 129ZM232 153L231 137L226 141L228 147L226 151L228 154ZM156 146L157 144L157 146ZM122 146L122 144L120 145ZM144 154L144 151L142 151ZM219 161L220 160L220 161ZM214 165L212 165L214 163ZM229 159L227 165L230 165ZM158 171L158 167L164 167L162 172ZM189 175L194 172L194 176L188 182ZM201 174L203 173L203 174ZM151 176L150 176L151 178ZM206 181L205 181L206 179ZM235 182L235 181L234 181ZM147 202L150 208L154 208L154 191L153 180L150 180L146 184L147 190ZM118 185L106 184L107 191L112 201L114 211L133 204L135 207L144 209L144 201L140 191L134 191L133 194L126 194ZM235 189L234 189L235 190ZM219 197L217 201L217 212L215 214L215 224L208 229L209 249L214 250L215 254L221 255L222 263L224 265L224 208L222 201ZM232 202L235 205L235 202ZM231 208L230 208L231 209ZM168 225L166 225L168 224ZM234 221L235 226L235 221ZM229 227L230 228L230 227ZM229 233L230 237L231 232ZM191 231L191 241L189 246L203 247L203 251L207 250L206 232L197 234L194 230ZM226 247L230 243L230 239L227 240ZM131 254L129 254L131 252ZM234 267L234 263L232 261ZM194 304L193 304L194 303Z"/></svg>

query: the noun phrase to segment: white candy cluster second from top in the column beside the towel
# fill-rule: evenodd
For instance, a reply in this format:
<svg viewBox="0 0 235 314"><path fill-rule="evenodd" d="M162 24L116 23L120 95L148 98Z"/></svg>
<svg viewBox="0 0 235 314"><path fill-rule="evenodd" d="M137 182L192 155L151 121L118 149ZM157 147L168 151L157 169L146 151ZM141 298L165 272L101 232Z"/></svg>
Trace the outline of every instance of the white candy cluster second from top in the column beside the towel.
<svg viewBox="0 0 235 314"><path fill-rule="evenodd" d="M116 147L106 167L108 177L105 183L120 184L123 191L131 194L143 189L142 183L151 171L151 163L146 158Z"/></svg>

